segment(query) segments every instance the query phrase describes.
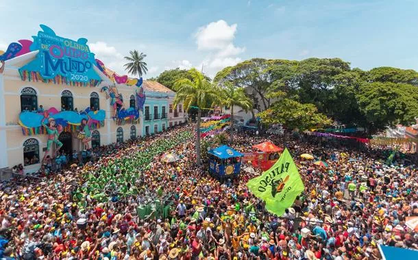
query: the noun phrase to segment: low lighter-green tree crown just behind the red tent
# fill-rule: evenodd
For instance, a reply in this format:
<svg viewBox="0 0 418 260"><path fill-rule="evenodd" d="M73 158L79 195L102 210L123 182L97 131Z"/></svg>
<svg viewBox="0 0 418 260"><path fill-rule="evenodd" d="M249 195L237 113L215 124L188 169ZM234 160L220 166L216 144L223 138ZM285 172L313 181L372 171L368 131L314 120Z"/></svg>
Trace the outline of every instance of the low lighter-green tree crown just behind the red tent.
<svg viewBox="0 0 418 260"><path fill-rule="evenodd" d="M332 121L318 112L312 104L302 104L292 99L283 99L258 114L267 125L282 124L288 129L302 131L331 125Z"/></svg>

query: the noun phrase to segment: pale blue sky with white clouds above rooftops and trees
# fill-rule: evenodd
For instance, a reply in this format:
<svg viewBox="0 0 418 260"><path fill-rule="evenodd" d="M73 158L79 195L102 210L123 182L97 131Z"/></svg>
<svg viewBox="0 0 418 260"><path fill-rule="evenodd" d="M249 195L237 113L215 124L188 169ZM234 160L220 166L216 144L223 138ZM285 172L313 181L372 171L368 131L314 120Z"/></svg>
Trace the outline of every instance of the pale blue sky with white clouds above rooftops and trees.
<svg viewBox="0 0 418 260"><path fill-rule="evenodd" d="M364 70L418 70L418 1L30 1L0 0L0 49L48 25L84 37L107 66L147 54L149 73L201 68L213 76L252 57L341 57Z"/></svg>

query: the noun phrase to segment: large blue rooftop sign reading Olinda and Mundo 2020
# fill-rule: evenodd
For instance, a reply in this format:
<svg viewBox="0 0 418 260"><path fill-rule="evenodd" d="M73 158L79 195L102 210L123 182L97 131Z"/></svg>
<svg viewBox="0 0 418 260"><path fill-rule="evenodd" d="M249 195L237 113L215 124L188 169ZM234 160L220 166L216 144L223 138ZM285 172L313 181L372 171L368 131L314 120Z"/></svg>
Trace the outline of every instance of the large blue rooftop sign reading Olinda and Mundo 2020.
<svg viewBox="0 0 418 260"><path fill-rule="evenodd" d="M74 40L62 38L45 25L40 25L42 31L34 36L30 51L39 51L35 60L19 69L36 72L42 79L64 77L64 81L88 83L101 81L95 72L95 54L90 52L85 38Z"/></svg>

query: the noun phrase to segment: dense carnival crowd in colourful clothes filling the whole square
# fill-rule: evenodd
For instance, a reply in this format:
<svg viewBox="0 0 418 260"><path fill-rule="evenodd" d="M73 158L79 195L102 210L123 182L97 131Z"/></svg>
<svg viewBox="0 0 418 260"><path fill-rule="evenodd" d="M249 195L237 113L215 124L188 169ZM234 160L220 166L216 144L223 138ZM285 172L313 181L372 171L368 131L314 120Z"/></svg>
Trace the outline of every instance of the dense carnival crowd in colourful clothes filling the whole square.
<svg viewBox="0 0 418 260"><path fill-rule="evenodd" d="M210 139L210 137L208 137ZM247 189L244 164L220 183L196 166L193 128L100 148L97 160L1 185L5 259L381 259L379 244L418 249L417 168L341 142L237 135L237 151L289 148L306 190L284 216ZM174 153L173 163L161 160ZM328 164L302 159L310 153Z"/></svg>

